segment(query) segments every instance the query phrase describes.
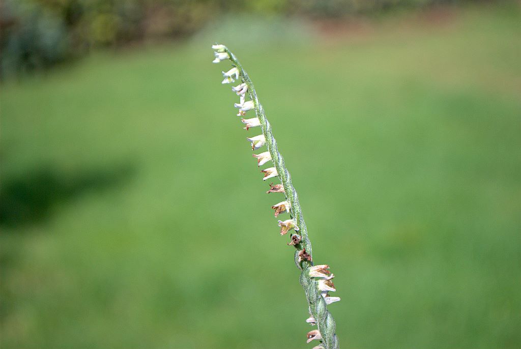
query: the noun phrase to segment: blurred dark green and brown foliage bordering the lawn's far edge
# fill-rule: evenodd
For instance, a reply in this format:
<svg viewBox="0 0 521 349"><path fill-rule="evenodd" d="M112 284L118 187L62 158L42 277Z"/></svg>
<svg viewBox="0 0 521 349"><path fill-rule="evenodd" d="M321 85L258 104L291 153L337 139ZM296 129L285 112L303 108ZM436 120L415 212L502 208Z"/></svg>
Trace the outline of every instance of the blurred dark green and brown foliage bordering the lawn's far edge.
<svg viewBox="0 0 521 349"><path fill-rule="evenodd" d="M82 56L93 47L183 38L227 13L309 18L375 14L444 0L4 0L0 78Z"/></svg>

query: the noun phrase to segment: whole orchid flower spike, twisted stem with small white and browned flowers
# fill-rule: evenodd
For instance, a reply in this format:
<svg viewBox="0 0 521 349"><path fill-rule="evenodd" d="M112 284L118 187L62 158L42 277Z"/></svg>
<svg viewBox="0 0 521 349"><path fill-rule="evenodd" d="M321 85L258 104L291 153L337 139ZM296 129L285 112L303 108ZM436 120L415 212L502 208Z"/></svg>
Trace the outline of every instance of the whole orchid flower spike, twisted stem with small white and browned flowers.
<svg viewBox="0 0 521 349"><path fill-rule="evenodd" d="M281 235L292 231L289 234L288 245L295 247L295 264L302 270L300 282L306 293L310 315L306 322L318 327L317 330L307 333L307 343L318 340L320 345L313 349L337 349L339 344L335 334L336 324L327 310L327 305L340 301L340 297L329 295L329 292L336 291L332 282L334 275L329 271L328 265L313 265L312 246L307 236L307 228L302 217L297 193L291 183L290 173L284 166L284 160L278 151L277 142L271 133L271 125L266 119L264 108L258 102L257 93L250 77L225 45L213 45L212 48L215 50L214 63L229 60L232 65L230 70L222 72L224 77L222 83L228 84L240 80L237 86L232 87L232 91L239 96L239 103L235 103L234 107L239 109L237 116L241 117L244 129L246 131L255 127L262 129L262 134L248 137L246 140L251 143L253 151L264 145L268 148L266 152L253 154L253 157L257 159L258 167L269 161L275 165L261 170L264 173L263 180L277 177L281 181L280 184L270 183L270 189L266 193L284 193L286 196L286 200L271 208L275 210L275 217L284 213L290 216L290 219L278 220L278 226ZM246 100L246 94L249 100ZM244 117L249 110L255 110L255 117L246 119Z"/></svg>

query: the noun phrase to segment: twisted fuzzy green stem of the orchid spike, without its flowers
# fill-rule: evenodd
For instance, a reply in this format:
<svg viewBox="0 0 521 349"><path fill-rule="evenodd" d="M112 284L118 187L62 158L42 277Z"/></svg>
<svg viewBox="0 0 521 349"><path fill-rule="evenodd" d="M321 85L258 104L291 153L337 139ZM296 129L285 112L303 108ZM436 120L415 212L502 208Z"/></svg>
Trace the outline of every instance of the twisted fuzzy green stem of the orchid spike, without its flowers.
<svg viewBox="0 0 521 349"><path fill-rule="evenodd" d="M335 334L336 324L334 322L333 317L327 310L327 305L324 298L320 295L320 291L317 288L317 281L314 278L309 277L308 268L313 265L312 261L302 260L299 261L299 252L305 248L305 251L309 255L313 255L313 250L311 246L311 241L309 241L307 235L307 227L304 222L304 217L302 216L302 209L299 203L299 196L296 193L293 184L291 183L291 175L289 171L286 169L284 165L284 159L282 155L279 153L277 148L277 141L275 140L272 132L271 125L266 118L264 113L264 108L261 103L258 101L257 92L253 86L253 82L242 68L242 65L239 63L239 60L233 53L231 53L228 47L225 48L225 51L230 56L230 60L232 61L232 65L239 70L240 76L242 77L243 82L248 86L248 94L253 101L255 106L255 114L259 121L261 121L262 132L266 138L266 144L268 146L268 151L271 154L271 159L275 164L275 168L278 172L278 177L280 182L284 186L284 194L286 194L286 199L291 205L291 213L293 220L295 221L297 227L299 227L299 233L301 235L302 241L296 245L295 251L295 263L299 269L302 270L300 276L300 283L304 288L306 293L307 302L309 305L309 309L311 314L317 321L318 330L322 336L322 345L326 349L338 349L338 338Z"/></svg>

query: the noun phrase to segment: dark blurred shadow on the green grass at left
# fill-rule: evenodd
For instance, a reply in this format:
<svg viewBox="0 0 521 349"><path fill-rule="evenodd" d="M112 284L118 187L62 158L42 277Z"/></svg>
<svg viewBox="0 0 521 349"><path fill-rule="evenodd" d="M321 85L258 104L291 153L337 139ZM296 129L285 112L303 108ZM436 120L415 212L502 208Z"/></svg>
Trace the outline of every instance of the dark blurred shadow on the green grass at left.
<svg viewBox="0 0 521 349"><path fill-rule="evenodd" d="M14 178L4 176L0 186L0 225L15 227L40 223L51 215L54 205L71 201L83 193L117 186L134 174L135 167L125 163L74 173L46 166Z"/></svg>

